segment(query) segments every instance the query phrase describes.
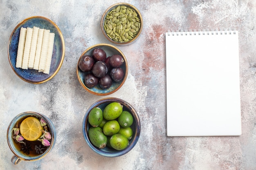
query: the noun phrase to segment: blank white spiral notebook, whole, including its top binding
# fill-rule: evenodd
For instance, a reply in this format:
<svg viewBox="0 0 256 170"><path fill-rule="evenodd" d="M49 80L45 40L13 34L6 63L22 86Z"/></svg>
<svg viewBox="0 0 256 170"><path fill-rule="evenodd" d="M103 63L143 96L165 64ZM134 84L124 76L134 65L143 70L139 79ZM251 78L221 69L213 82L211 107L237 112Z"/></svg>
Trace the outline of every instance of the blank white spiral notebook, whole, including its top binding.
<svg viewBox="0 0 256 170"><path fill-rule="evenodd" d="M238 31L166 32L167 136L241 135Z"/></svg>

